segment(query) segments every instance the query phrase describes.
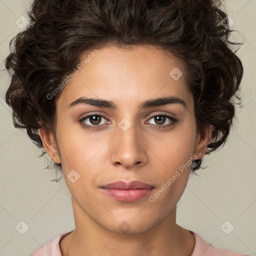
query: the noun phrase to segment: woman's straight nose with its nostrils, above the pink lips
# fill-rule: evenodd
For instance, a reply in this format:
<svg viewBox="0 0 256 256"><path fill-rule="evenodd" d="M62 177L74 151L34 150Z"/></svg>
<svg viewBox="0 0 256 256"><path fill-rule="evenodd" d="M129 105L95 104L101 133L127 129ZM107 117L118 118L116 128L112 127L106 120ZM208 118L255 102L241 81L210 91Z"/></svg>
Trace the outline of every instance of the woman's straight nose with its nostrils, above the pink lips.
<svg viewBox="0 0 256 256"><path fill-rule="evenodd" d="M123 124L124 126L116 126L116 134L111 143L111 162L116 166L122 165L125 169L141 167L148 161L145 138L133 123L130 123L127 130L125 125L130 124Z"/></svg>

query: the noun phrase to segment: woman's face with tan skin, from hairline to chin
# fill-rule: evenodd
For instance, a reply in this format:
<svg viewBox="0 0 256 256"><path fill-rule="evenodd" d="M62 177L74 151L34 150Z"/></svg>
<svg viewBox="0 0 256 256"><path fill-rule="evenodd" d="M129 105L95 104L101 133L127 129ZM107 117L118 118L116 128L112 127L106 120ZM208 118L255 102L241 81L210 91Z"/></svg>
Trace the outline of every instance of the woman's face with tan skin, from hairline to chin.
<svg viewBox="0 0 256 256"><path fill-rule="evenodd" d="M145 231L171 214L191 157L203 156L210 135L196 133L193 99L178 59L148 46L108 46L89 55L56 103L57 148L45 149L62 164L74 212L111 231ZM115 108L77 101L85 97L111 101ZM179 100L145 103L166 97ZM120 193L117 199L101 188L116 180L154 188L140 199Z"/></svg>

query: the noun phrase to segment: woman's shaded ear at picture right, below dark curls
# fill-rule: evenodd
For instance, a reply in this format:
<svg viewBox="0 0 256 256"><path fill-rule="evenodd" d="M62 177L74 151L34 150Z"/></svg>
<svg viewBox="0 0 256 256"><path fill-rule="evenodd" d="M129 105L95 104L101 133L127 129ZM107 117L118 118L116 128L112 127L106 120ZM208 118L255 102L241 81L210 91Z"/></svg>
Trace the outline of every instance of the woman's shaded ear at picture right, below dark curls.
<svg viewBox="0 0 256 256"><path fill-rule="evenodd" d="M209 124L203 129L202 134L198 132L196 135L193 154L199 151L200 157L198 157L198 159L200 159L206 152L207 145L211 139L211 131L212 124Z"/></svg>

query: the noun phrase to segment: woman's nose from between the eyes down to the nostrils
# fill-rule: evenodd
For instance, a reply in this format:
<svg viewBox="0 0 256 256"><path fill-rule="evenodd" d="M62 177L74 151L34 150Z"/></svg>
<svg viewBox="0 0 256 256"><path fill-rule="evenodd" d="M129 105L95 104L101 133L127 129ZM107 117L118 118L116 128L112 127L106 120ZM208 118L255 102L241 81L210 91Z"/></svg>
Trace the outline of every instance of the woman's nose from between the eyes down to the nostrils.
<svg viewBox="0 0 256 256"><path fill-rule="evenodd" d="M116 126L114 147L112 148L111 161L113 164L122 164L132 167L146 162L145 147L139 137L141 134L136 127L135 119L123 118Z"/></svg>

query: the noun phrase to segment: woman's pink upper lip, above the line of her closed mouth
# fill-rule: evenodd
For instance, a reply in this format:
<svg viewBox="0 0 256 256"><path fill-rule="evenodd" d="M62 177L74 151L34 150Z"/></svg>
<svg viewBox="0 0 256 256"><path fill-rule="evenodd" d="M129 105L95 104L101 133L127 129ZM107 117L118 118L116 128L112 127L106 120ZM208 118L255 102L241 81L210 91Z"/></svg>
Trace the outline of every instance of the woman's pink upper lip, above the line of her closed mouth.
<svg viewBox="0 0 256 256"><path fill-rule="evenodd" d="M113 189L138 189L138 188L153 188L153 185L147 184L139 180L132 180L130 182L125 182L122 180L113 181L111 183L101 186L102 188L113 188Z"/></svg>

